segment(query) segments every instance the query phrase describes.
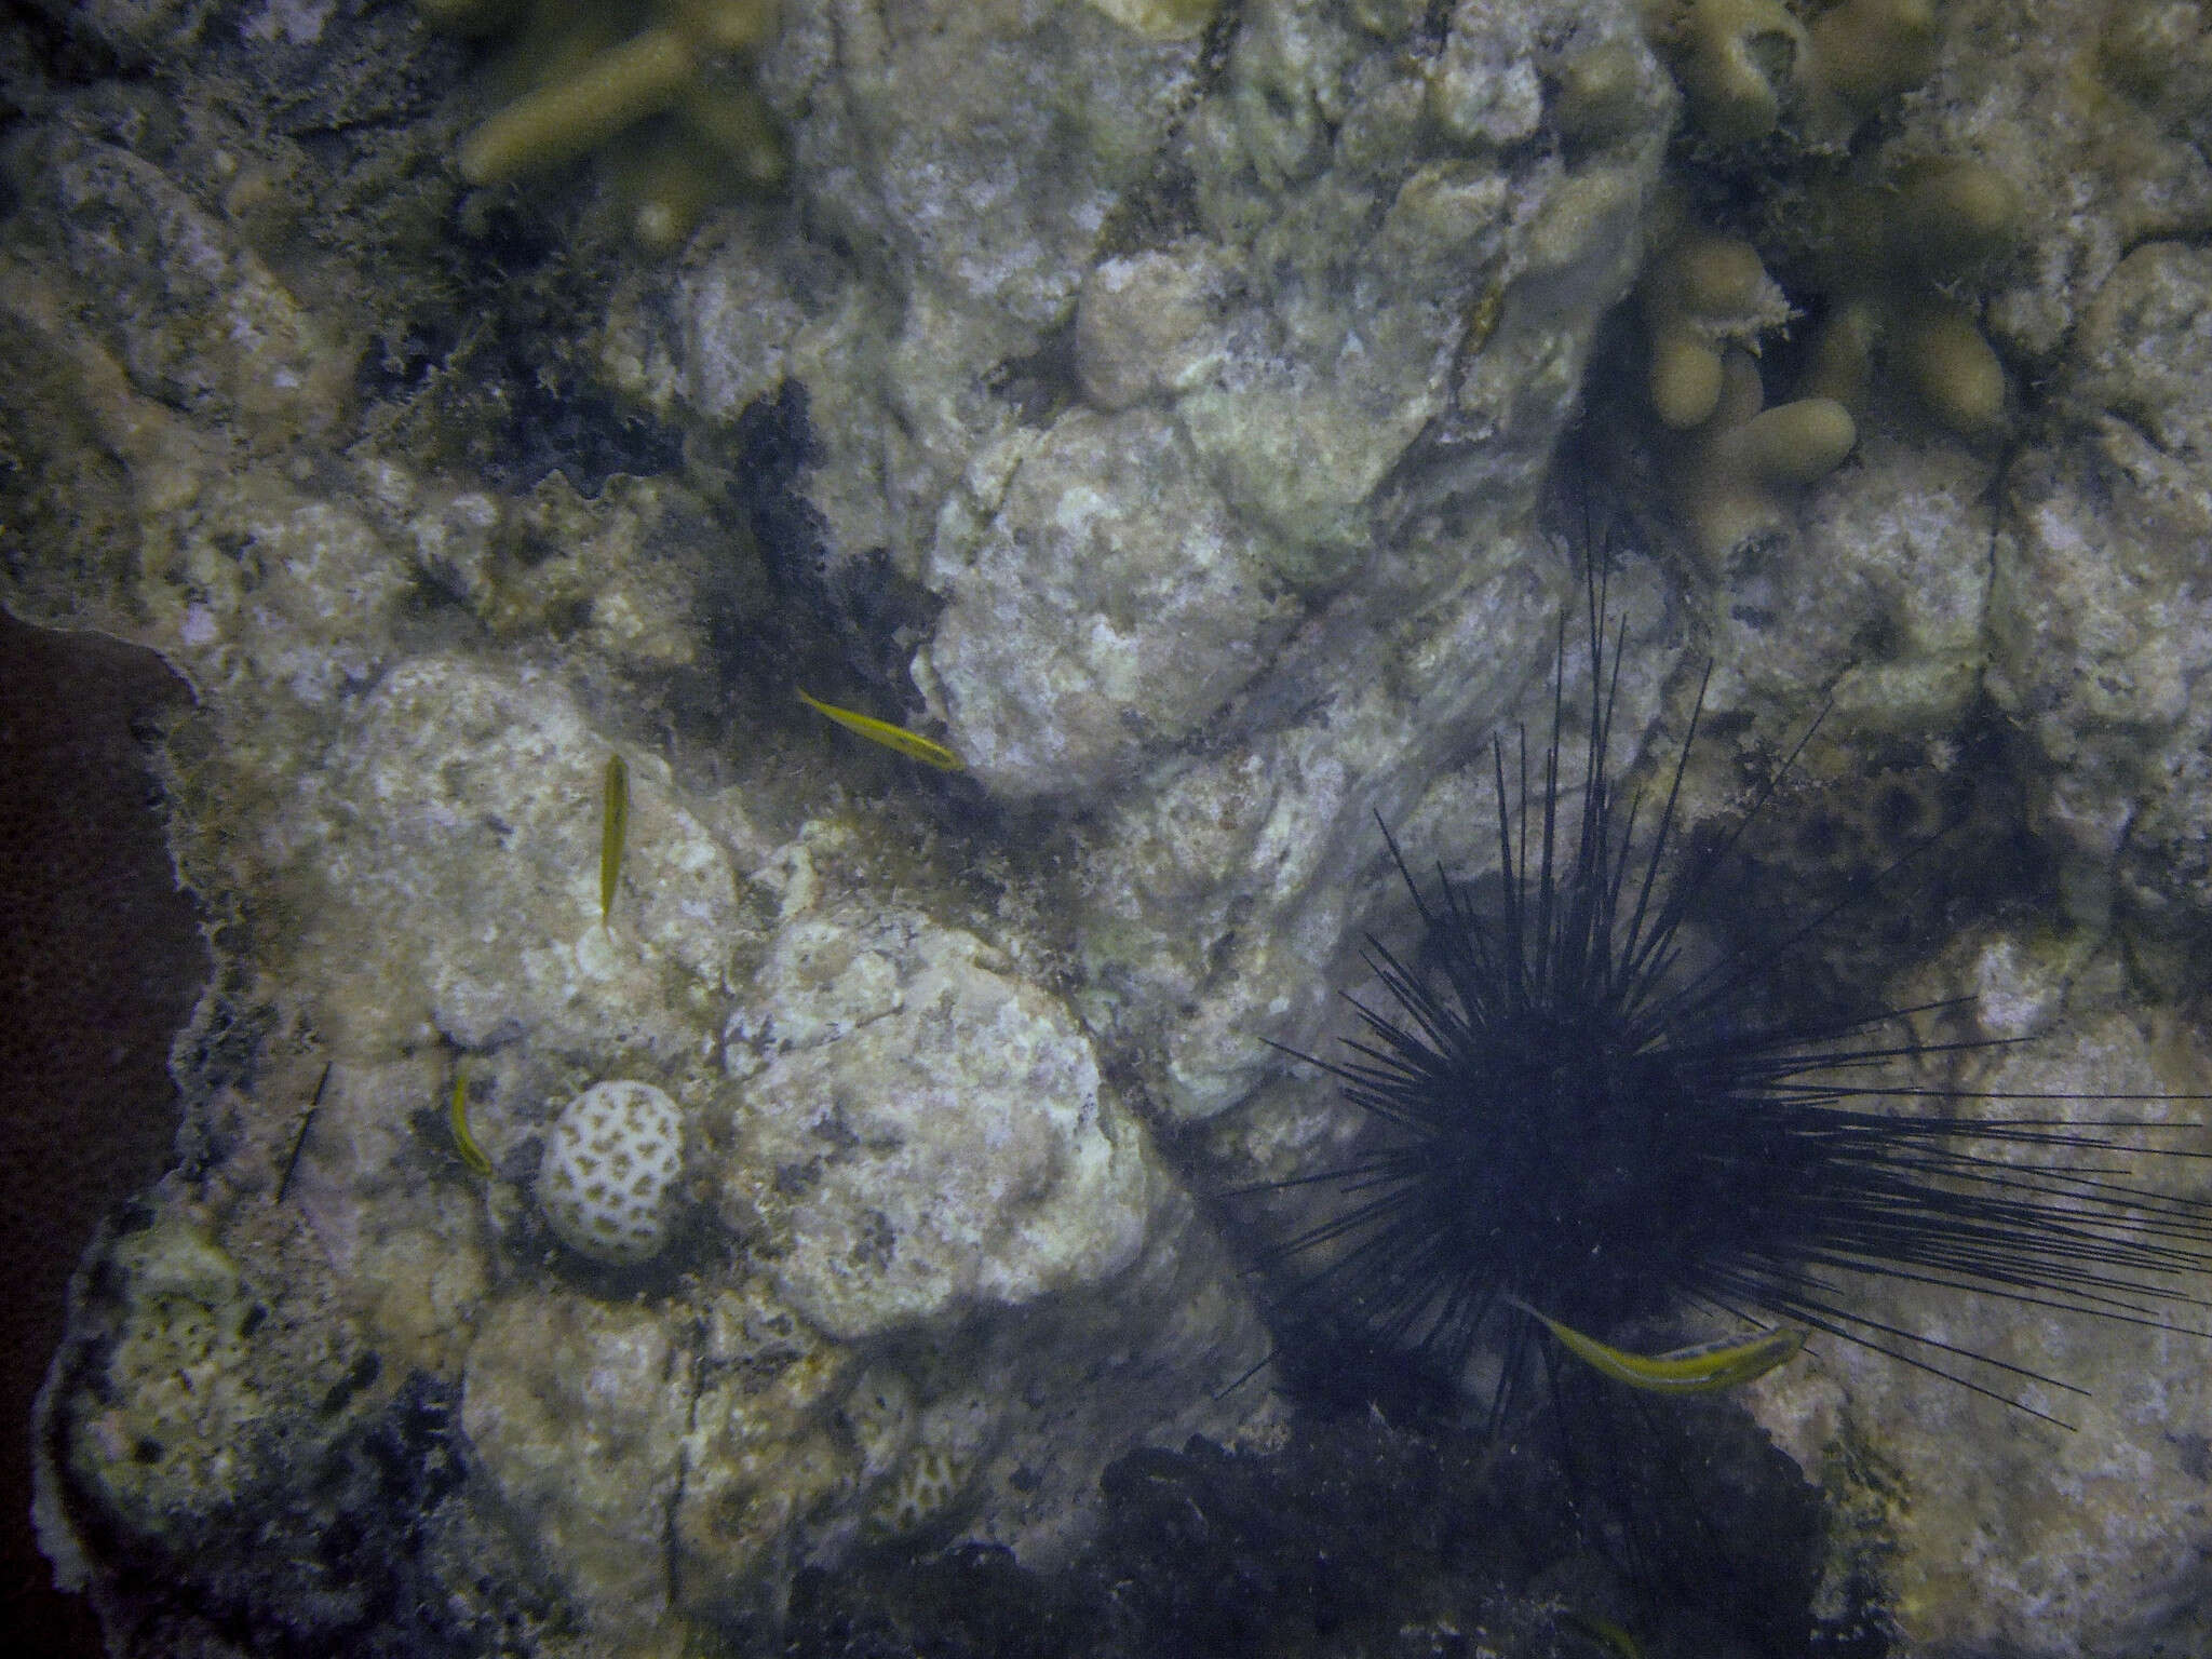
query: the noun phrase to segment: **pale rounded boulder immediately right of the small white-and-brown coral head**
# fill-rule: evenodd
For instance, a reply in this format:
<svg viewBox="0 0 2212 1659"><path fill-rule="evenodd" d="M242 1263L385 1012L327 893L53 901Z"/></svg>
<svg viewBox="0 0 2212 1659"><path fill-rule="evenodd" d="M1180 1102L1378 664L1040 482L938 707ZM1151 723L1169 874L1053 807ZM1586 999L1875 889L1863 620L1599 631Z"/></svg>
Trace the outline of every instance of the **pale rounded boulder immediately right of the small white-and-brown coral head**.
<svg viewBox="0 0 2212 1659"><path fill-rule="evenodd" d="M902 909L796 916L723 1053L741 1079L726 1203L827 1336L1093 1290L1144 1243L1164 1172L1068 1011L971 933Z"/></svg>

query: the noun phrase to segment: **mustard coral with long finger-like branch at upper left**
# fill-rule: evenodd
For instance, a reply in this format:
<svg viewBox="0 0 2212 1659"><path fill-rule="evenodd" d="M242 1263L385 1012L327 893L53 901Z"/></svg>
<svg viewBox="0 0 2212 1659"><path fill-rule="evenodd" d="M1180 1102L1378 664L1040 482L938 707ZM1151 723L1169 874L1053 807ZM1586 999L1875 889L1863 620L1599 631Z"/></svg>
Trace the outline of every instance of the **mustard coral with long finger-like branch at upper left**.
<svg viewBox="0 0 2212 1659"><path fill-rule="evenodd" d="M504 0L418 7L456 33L504 31L515 13ZM462 139L460 175L509 184L613 146L637 239L675 248L732 186L783 181L783 137L748 62L776 20L776 0L538 0L511 64L529 88Z"/></svg>

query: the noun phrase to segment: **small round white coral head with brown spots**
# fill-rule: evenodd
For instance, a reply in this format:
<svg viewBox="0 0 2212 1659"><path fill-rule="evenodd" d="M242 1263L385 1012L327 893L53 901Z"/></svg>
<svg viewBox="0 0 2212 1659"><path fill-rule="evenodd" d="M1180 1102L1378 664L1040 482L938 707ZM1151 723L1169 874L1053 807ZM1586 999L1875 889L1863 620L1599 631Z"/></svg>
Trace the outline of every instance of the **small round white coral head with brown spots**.
<svg viewBox="0 0 2212 1659"><path fill-rule="evenodd" d="M635 1265L661 1252L684 1170L684 1115L653 1084L593 1084L553 1124L538 1203L564 1245Z"/></svg>

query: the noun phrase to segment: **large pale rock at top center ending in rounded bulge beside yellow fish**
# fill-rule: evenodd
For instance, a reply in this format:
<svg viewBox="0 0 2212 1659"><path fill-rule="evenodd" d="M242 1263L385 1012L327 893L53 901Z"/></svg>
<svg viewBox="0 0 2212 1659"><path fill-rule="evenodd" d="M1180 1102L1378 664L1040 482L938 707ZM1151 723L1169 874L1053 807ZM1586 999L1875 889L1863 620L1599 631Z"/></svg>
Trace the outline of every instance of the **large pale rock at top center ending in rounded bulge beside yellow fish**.
<svg viewBox="0 0 2212 1659"><path fill-rule="evenodd" d="M872 170L814 184L858 283L765 283L768 316L799 323L776 367L805 389L792 482L818 526L787 553L847 606L869 597L841 575L863 557L929 591L914 679L987 787L1119 787L1239 692L1270 697L1250 688L1301 606L1338 586L1422 604L1429 573L1369 540L1495 498L1489 467L1526 467L1557 429L1632 268L1668 93L1610 7L1464 11L1431 77L1336 7L1270 4L1212 88L1194 44L1079 9L836 49L787 13L770 66L792 73L794 153L894 133ZM1606 142L1575 168L1526 146L1566 38L1621 60ZM1484 86L1511 95L1473 111ZM947 119L962 88L975 113ZM1013 170L1009 135L1046 111L1055 166ZM1197 223L1150 226L1161 173ZM726 310L739 281L763 285L686 279L690 385L721 418L772 389L732 367L761 358Z"/></svg>

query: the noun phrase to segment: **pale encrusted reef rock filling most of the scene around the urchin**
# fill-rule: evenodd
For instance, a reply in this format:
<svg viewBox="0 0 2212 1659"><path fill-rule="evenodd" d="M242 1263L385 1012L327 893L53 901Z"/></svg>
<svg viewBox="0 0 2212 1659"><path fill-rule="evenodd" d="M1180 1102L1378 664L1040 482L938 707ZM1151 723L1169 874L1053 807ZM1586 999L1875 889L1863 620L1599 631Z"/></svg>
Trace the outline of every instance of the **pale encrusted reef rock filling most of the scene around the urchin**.
<svg viewBox="0 0 2212 1659"><path fill-rule="evenodd" d="M2064 1018L1980 1082L2203 1086L2159 1035L2212 940L2201 9L639 0L509 44L571 11L504 91L411 7L0 20L0 599L197 692L179 1161L38 1431L122 1650L781 1650L796 1577L1046 1571L1117 1458L1265 1444L1206 1199L1340 1164L1281 1048L1418 929L1376 821L1493 874L1491 743L1588 653L1562 456L1639 531L1613 759L1705 686L1683 836L1827 710L1745 902L1911 852L1933 896L1867 883L1823 969L1960 995L1953 933L2037 914L2079 949L1991 1018ZM602 1079L684 1139L624 1259L546 1210ZM2095 1387L2059 1451L1869 1356L1761 1383L1838 1515L1880 1498L1838 1582L1924 1652L2201 1646L2201 1349L2020 1314L1960 1340Z"/></svg>

